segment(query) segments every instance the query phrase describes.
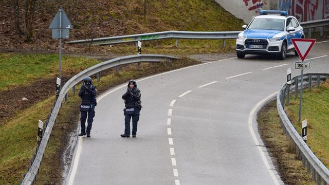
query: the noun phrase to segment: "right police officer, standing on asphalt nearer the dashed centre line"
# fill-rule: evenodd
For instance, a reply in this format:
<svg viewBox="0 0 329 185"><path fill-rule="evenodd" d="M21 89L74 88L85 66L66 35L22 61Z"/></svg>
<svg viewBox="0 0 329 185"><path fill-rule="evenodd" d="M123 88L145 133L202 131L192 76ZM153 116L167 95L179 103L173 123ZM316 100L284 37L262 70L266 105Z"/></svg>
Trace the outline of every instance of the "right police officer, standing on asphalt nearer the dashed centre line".
<svg viewBox="0 0 329 185"><path fill-rule="evenodd" d="M142 108L140 101L140 90L137 88L135 80L130 80L127 91L122 95L124 100L124 134L121 137L130 137L130 120L133 118L132 135L136 137L137 122L139 120L139 112Z"/></svg>

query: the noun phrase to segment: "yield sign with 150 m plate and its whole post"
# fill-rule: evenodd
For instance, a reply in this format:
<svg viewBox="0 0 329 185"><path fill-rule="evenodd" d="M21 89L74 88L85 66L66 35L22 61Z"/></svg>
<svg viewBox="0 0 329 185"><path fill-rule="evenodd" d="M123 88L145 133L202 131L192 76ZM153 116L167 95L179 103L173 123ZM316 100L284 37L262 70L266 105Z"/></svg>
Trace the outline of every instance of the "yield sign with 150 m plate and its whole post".
<svg viewBox="0 0 329 185"><path fill-rule="evenodd" d="M295 69L301 69L301 84L300 84L300 99L299 99L299 116L298 116L298 123L300 123L301 120L301 114L302 114L302 98L303 98L303 73L304 69L309 69L309 63L305 64L304 59L306 58L308 52L310 49L312 49L313 45L315 44L315 39L291 39L293 42L295 49L299 55L299 58L302 62L296 62L295 63ZM296 68L297 65L297 68ZM307 66L307 67L306 67ZM296 82L295 82L296 83ZM298 83L298 80L297 80ZM298 92L298 89L296 89Z"/></svg>

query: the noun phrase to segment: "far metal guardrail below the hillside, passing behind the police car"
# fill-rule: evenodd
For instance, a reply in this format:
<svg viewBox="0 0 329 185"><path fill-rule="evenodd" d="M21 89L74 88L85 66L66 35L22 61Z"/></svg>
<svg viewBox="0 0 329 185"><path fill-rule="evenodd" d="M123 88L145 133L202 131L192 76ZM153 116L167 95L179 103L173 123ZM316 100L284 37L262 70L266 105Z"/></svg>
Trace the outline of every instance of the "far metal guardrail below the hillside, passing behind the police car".
<svg viewBox="0 0 329 185"><path fill-rule="evenodd" d="M301 22L300 25L304 29L316 28L329 25L329 18L324 20ZM321 29L322 30L322 29ZM90 45L109 45L119 43L130 43L137 41L151 41L159 39L176 39L176 46L178 46L178 39L223 39L223 46L225 46L225 39L236 39L237 34L241 31L162 31L153 33L142 33L123 36L112 36L107 38L87 39L78 41L69 41L68 44L90 44ZM311 30L308 30L310 37ZM322 35L322 34L321 34Z"/></svg>

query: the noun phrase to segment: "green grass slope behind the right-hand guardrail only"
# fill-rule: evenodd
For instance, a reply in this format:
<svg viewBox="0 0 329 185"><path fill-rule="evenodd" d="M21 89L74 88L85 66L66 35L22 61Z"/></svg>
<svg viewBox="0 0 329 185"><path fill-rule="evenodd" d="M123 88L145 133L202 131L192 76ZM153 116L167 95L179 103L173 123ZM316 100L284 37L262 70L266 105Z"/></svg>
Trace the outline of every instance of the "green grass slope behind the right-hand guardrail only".
<svg viewBox="0 0 329 185"><path fill-rule="evenodd" d="M299 98L290 98L287 114L301 133L302 125L298 123ZM329 89L326 85L320 88L303 91L301 121L307 120L307 144L325 165L329 165Z"/></svg>

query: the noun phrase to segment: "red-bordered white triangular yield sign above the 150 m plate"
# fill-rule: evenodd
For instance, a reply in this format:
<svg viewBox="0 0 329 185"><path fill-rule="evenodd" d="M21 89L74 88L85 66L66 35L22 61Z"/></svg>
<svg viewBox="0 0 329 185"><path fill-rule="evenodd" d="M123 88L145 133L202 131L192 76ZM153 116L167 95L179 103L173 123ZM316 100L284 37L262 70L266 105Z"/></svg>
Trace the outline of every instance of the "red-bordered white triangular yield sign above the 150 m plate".
<svg viewBox="0 0 329 185"><path fill-rule="evenodd" d="M306 55L313 47L316 39L291 39L295 46L296 51L298 52L299 58L304 61Z"/></svg>

